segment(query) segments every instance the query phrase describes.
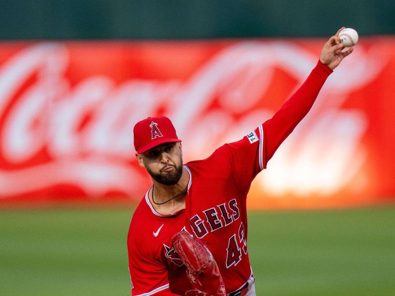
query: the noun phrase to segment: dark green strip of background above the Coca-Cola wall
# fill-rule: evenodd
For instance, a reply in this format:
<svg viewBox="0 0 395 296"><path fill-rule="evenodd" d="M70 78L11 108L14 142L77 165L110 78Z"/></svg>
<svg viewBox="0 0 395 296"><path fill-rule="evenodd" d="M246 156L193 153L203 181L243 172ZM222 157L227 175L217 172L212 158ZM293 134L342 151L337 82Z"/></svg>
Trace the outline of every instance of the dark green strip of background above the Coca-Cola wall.
<svg viewBox="0 0 395 296"><path fill-rule="evenodd" d="M1 39L190 39L395 34L395 0L1 0Z"/></svg>

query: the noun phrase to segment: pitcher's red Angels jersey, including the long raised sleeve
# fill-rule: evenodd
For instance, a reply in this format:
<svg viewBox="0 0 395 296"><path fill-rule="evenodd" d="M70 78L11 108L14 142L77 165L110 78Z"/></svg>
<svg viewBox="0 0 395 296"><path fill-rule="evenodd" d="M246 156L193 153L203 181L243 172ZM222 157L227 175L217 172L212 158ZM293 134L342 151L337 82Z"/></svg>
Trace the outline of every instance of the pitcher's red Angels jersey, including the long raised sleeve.
<svg viewBox="0 0 395 296"><path fill-rule="evenodd" d="M187 163L190 180L185 210L158 214L146 194L128 234L133 296L165 295L166 291L168 295L185 295L191 289L185 266L180 266L170 248L171 237L184 227L211 251L227 293L247 282L252 275L246 244L246 196L251 182L311 109L331 72L318 62L270 120L242 140L218 148L210 157Z"/></svg>

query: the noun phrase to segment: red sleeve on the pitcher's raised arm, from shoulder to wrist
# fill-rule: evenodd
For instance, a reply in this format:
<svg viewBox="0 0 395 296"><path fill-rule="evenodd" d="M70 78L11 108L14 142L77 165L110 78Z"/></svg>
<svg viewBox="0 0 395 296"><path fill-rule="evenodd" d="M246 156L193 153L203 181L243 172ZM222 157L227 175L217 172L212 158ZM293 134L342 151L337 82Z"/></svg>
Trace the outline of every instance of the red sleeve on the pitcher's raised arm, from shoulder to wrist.
<svg viewBox="0 0 395 296"><path fill-rule="evenodd" d="M312 108L326 78L333 71L318 61L302 86L275 115L238 142L227 144L232 174L240 192L247 194L252 180L266 168L280 144Z"/></svg>

